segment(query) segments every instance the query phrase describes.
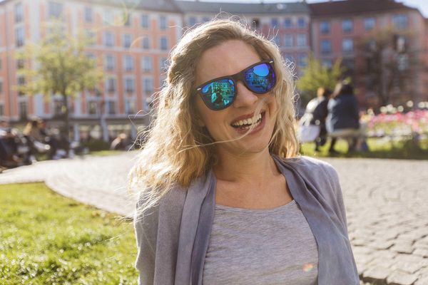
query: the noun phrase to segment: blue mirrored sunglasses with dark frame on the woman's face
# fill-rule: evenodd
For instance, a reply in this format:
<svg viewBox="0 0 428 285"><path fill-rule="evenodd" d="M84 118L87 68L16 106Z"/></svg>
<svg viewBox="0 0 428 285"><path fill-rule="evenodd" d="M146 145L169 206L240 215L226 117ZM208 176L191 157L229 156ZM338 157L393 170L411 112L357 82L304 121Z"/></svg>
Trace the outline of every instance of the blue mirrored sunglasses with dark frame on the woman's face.
<svg viewBox="0 0 428 285"><path fill-rule="evenodd" d="M263 94L275 87L273 59L260 61L233 76L223 76L205 82L196 88L203 102L211 110L228 108L236 97L236 84L242 81L248 90Z"/></svg>

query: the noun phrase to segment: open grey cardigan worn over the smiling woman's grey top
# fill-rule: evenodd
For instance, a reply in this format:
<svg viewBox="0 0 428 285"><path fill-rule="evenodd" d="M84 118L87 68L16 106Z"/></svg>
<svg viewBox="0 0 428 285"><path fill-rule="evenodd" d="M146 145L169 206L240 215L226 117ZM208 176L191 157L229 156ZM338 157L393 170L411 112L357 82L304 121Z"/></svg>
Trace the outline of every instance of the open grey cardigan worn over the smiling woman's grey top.
<svg viewBox="0 0 428 285"><path fill-rule="evenodd" d="M309 157L282 160L274 156L274 160L317 242L318 284L360 284L336 171ZM136 215L139 284L202 284L215 183L210 171L187 189L173 188L158 206Z"/></svg>

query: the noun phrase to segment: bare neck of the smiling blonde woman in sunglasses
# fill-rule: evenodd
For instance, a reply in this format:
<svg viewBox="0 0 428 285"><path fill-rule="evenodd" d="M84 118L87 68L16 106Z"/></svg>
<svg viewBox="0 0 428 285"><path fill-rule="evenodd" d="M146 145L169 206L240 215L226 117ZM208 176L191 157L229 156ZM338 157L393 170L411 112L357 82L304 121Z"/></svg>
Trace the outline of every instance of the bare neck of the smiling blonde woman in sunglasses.
<svg viewBox="0 0 428 285"><path fill-rule="evenodd" d="M243 183L269 181L280 173L267 148L249 154L220 151L213 171L219 180Z"/></svg>

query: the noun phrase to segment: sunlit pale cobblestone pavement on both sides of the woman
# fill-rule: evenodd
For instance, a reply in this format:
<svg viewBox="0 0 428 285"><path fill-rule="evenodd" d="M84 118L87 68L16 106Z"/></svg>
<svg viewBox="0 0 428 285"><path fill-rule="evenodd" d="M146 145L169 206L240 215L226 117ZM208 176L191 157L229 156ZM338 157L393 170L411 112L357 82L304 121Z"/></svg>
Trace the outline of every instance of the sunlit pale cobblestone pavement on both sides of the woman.
<svg viewBox="0 0 428 285"><path fill-rule="evenodd" d="M132 216L126 174L136 152L37 162L0 184L44 181L61 195ZM323 159L339 172L361 284L428 285L428 162Z"/></svg>

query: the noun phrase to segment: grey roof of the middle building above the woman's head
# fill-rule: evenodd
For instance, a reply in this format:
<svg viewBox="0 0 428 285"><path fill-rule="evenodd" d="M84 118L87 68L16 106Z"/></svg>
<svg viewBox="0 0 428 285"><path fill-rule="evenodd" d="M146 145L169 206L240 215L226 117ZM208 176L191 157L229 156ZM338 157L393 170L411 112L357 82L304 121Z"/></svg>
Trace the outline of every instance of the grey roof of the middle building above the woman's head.
<svg viewBox="0 0 428 285"><path fill-rule="evenodd" d="M264 4L245 4L245 3L218 3L201 1L175 1L183 13L210 13L218 14L227 12L230 14L289 14L289 13L307 13L310 10L304 1L293 3L264 3Z"/></svg>

